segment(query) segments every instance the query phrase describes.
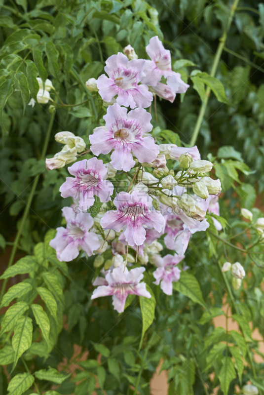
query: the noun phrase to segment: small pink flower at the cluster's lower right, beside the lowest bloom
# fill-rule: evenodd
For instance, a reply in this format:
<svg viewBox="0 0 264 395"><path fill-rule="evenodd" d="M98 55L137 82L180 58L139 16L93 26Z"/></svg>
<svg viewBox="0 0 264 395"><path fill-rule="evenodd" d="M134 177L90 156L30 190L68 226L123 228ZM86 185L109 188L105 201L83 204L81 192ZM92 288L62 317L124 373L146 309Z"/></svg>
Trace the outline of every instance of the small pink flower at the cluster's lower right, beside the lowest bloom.
<svg viewBox="0 0 264 395"><path fill-rule="evenodd" d="M160 283L160 288L166 295L172 295L172 283L180 279L181 270L176 265L184 258L184 255L173 256L170 254L165 255L163 258L160 255L155 255L152 258L152 263L157 266L153 273L156 279L154 284L158 285Z"/></svg>

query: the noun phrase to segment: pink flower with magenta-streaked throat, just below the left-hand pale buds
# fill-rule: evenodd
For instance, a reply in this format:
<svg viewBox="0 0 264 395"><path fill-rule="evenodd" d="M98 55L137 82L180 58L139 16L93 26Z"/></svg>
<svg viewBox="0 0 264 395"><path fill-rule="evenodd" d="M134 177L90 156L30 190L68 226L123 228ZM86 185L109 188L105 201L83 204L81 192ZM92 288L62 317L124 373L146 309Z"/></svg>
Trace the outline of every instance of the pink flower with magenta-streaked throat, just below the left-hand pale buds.
<svg viewBox="0 0 264 395"><path fill-rule="evenodd" d="M94 203L94 195L102 202L107 202L113 194L113 184L107 177L107 168L103 160L97 158L83 159L68 167L70 174L60 187L62 197L73 197L79 202L82 211L87 210Z"/></svg>

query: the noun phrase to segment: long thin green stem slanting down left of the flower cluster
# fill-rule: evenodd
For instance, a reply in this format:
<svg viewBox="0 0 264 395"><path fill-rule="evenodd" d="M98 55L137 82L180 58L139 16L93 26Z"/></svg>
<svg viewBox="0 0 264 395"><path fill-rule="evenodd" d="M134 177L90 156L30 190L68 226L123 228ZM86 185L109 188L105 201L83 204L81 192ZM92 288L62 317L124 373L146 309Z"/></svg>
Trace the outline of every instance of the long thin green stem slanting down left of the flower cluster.
<svg viewBox="0 0 264 395"><path fill-rule="evenodd" d="M54 122L54 117L55 117L55 113L51 116L50 121L49 121L49 126L48 126L46 138L45 138L43 149L42 149L42 153L41 153L41 159L44 159L45 155L46 155L48 142L49 142L49 137L50 137L51 129L52 129L53 122ZM26 203L26 207L25 207L25 210L24 210L24 213L23 213L20 225L19 225L19 229L17 231L16 237L15 237L15 240L14 240L14 244L13 244L13 248L12 248L12 251L11 251L11 254L10 254L10 258L9 258L9 261L8 261L8 264L7 264L7 268L9 268L13 264L13 260L14 260L14 257L15 257L15 254L16 254L16 250L17 250L17 247L18 247L18 242L19 242L20 236L22 234L22 231L23 231L23 228L24 228L24 225L25 225L25 222L26 222L29 210L30 210L30 206L31 206L31 203L32 203L32 200L33 200L33 197L34 197L37 185L38 185L39 177L40 177L40 174L38 174L38 176L33 181L32 189L31 189L30 195L28 197L28 200L27 200L27 203ZM6 288L7 281L8 281L8 278L5 278L3 280L2 287L1 287L1 293L0 293L0 302L2 300L4 291L5 291L5 288Z"/></svg>

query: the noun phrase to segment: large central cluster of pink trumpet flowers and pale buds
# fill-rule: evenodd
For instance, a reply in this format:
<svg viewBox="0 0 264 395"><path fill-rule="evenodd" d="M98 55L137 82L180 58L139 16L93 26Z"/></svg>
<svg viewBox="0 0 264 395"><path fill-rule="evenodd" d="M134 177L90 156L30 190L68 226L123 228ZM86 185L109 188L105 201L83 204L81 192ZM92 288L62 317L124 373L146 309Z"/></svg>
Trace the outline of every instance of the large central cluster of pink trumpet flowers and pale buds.
<svg viewBox="0 0 264 395"><path fill-rule="evenodd" d="M96 255L93 265L100 275L93 281L97 288L92 299L112 296L119 313L124 311L128 294L151 298L142 282L146 269L155 278L149 286L160 284L165 294L172 295L173 282L188 269L182 261L189 240L209 227L207 212L216 229L222 229L215 218L221 184L208 175L213 164L201 160L196 146L158 145L150 135L151 114L145 108L153 95L173 102L189 85L172 71L170 52L157 37L150 40L146 51L150 59L138 59L128 45L125 54L106 61L108 77L86 82L90 92L97 92L108 103L105 125L94 129L89 136L91 145L84 152L94 157L77 160L86 149L83 139L60 132L55 139L65 147L46 159L48 169L75 162L68 167L73 177L67 177L60 188L61 196L72 197L74 204L63 209L67 227L57 229L50 245L60 261L72 261L80 251L81 258ZM109 162L106 156L110 153ZM173 168L179 171L175 174ZM128 181L128 188L121 181ZM95 199L99 212L93 211L98 207ZM232 272L241 278L238 267Z"/></svg>

